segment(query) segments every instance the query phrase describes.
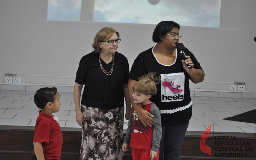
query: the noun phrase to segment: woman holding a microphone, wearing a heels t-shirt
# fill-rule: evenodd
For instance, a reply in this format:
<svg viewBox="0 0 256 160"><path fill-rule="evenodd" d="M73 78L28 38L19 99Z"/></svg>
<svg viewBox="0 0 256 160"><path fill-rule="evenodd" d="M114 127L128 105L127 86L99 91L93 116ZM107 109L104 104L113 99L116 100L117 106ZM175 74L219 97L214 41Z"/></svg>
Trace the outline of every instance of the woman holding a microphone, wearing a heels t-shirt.
<svg viewBox="0 0 256 160"><path fill-rule="evenodd" d="M186 60L177 52L176 45L181 38L180 26L173 21L162 21L153 32L156 46L140 53L131 68L128 92L137 116L144 125L154 124L152 115L141 105L132 100L133 85L138 77L149 72L156 72L161 83L156 96L152 96L159 107L162 121L162 139L160 142L159 160L180 160L181 146L189 120L192 116L192 100L189 90L189 79L193 83L202 82L204 71L195 56L187 49ZM189 69L187 64L192 67Z"/></svg>

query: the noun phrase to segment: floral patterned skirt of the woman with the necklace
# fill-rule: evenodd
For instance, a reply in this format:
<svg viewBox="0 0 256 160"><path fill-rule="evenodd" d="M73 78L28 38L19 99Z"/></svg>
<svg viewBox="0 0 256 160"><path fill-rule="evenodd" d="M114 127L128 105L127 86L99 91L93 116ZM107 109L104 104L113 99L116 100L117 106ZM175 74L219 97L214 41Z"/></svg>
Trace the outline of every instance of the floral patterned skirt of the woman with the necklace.
<svg viewBox="0 0 256 160"><path fill-rule="evenodd" d="M123 160L124 107L105 110L81 105L84 115L80 160Z"/></svg>

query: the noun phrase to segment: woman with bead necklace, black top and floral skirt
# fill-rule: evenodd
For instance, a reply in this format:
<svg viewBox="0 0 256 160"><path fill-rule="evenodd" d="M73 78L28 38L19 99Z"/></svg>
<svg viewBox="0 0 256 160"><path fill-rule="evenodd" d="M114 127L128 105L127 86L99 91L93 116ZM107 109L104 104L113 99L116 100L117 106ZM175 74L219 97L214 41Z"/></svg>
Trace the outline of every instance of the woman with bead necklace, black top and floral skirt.
<svg viewBox="0 0 256 160"><path fill-rule="evenodd" d="M123 160L124 98L127 119L131 103L127 91L129 64L116 51L119 43L116 30L102 28L94 38L94 51L79 63L74 102L76 120L82 127L80 160Z"/></svg>

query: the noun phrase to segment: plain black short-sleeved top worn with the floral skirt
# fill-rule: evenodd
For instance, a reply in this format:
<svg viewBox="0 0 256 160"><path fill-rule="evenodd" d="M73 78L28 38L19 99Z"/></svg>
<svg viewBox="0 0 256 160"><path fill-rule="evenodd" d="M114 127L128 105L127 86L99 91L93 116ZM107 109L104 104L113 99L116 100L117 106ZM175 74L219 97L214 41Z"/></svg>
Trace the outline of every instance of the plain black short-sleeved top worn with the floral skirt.
<svg viewBox="0 0 256 160"><path fill-rule="evenodd" d="M116 52L111 75L100 68L99 53L89 53L82 57L75 82L85 84L81 104L101 109L114 109L124 106L123 84L128 84L129 64L127 58ZM101 60L101 59L100 59ZM110 71L112 63L101 64Z"/></svg>

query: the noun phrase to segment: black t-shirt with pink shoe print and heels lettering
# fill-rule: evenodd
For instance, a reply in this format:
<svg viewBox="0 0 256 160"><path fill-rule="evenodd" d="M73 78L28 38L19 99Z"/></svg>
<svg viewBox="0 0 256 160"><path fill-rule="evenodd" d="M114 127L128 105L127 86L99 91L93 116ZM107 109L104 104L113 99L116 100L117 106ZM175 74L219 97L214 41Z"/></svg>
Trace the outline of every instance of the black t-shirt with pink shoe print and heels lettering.
<svg viewBox="0 0 256 160"><path fill-rule="evenodd" d="M177 53L177 52L176 52ZM195 56L186 48L194 68L202 69ZM182 56L177 53L176 60L171 65L160 64L153 47L140 53L131 68L129 79L138 81L138 77L149 72L161 76L161 83L156 85L158 92L151 97L161 113L162 125L180 125L189 121L192 116L192 101L189 90L189 74L182 65Z"/></svg>

